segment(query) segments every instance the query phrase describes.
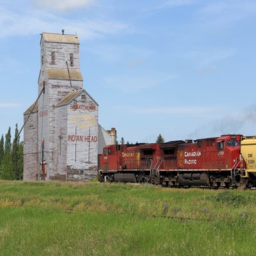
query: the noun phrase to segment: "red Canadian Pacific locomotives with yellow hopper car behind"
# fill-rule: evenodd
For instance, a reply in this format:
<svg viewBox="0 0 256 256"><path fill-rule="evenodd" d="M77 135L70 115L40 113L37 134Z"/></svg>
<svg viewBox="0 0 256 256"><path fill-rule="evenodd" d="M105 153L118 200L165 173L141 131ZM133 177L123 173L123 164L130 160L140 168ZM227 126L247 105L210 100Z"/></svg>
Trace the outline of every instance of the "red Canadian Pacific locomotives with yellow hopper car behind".
<svg viewBox="0 0 256 256"><path fill-rule="evenodd" d="M166 187L255 188L256 137L224 134L198 140L107 145L100 182Z"/></svg>

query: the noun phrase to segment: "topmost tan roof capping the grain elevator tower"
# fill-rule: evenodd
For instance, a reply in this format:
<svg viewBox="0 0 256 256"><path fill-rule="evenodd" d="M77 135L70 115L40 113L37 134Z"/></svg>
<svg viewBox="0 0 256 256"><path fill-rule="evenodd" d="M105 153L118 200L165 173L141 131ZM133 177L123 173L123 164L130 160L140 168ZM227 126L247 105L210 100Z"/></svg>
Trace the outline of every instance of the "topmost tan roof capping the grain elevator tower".
<svg viewBox="0 0 256 256"><path fill-rule="evenodd" d="M42 33L41 41L45 42L62 43L62 44L79 44L77 35L62 35L57 33Z"/></svg>

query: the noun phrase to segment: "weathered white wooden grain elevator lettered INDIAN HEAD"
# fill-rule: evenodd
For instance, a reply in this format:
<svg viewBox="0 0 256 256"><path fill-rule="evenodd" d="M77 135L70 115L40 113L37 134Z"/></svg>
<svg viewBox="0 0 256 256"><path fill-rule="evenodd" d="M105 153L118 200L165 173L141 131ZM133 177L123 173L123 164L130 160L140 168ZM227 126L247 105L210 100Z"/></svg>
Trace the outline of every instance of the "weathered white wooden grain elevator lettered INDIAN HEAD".
<svg viewBox="0 0 256 256"><path fill-rule="evenodd" d="M116 131L99 125L99 104L83 88L77 35L42 33L40 46L39 98L24 113L24 180L92 179Z"/></svg>

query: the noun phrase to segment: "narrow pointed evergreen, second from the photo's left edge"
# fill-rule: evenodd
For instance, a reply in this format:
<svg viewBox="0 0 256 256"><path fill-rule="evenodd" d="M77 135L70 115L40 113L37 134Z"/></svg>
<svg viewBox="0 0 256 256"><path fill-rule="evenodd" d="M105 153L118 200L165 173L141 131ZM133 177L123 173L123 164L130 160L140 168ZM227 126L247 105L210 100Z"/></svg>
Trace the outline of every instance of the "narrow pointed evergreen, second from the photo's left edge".
<svg viewBox="0 0 256 256"><path fill-rule="evenodd" d="M13 180L14 178L15 173L13 170L12 162L11 127L9 127L4 141L4 156L1 164L1 179Z"/></svg>

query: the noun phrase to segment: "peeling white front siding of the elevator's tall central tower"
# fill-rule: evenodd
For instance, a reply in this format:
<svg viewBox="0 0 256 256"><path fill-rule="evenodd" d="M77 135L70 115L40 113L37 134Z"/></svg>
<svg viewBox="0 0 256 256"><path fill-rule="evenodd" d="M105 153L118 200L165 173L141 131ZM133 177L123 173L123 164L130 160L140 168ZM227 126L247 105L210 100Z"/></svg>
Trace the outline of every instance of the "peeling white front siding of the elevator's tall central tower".
<svg viewBox="0 0 256 256"><path fill-rule="evenodd" d="M83 81L71 81L70 83L69 80L49 79L47 72L45 72L45 68L63 68L63 70L67 71L66 60L68 60L68 68L79 69L79 45L58 44L44 42L44 40L42 40L41 47L44 63L41 65L42 71L39 81L45 81L45 95L47 99L44 100L44 102L40 99L39 108L45 112L45 116L39 118L38 131L41 131L39 137L45 140L44 159L46 163L47 179L55 179L57 176L66 175L66 173L63 173L66 168L58 159L59 140L56 137L59 136L59 131L56 127L56 122L58 122L60 116L57 115L55 106L68 93L83 88ZM54 52L54 61L52 61L52 52ZM74 65L72 67L69 61L70 53L73 53L74 58ZM64 126L61 126L61 129L64 128ZM42 151L42 140L39 143L40 145L38 145L39 152ZM58 166L59 164L60 166Z"/></svg>

